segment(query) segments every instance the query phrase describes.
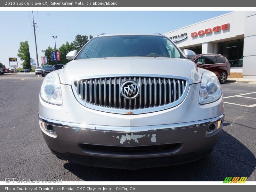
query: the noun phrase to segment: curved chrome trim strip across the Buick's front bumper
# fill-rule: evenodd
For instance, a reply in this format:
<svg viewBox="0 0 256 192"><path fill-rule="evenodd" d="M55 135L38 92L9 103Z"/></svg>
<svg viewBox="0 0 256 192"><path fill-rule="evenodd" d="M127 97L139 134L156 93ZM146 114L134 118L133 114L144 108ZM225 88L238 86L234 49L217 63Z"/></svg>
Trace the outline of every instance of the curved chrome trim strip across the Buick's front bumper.
<svg viewBox="0 0 256 192"><path fill-rule="evenodd" d="M44 117L40 116L39 114L38 114L38 118L39 118L39 120L41 120L47 124L52 124L54 126L73 128L73 129L87 129L87 130L111 131L111 132L145 132L145 131L163 131L163 130L170 130L170 129L182 129L182 128L208 125L210 123L215 123L217 121L223 120L224 114L221 116L218 116L218 117L211 118L211 119L192 121L192 122L187 122L187 123L134 126L134 127L70 123L70 122L56 121L56 120L44 118Z"/></svg>

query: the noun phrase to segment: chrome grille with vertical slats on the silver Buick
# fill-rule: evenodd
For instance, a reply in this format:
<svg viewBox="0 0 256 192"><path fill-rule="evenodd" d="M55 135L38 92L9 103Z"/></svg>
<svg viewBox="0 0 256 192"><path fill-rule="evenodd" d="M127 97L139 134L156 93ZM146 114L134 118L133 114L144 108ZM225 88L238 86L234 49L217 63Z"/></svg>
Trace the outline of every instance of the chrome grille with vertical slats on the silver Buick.
<svg viewBox="0 0 256 192"><path fill-rule="evenodd" d="M139 93L133 99L126 99L122 93L122 84L126 84L124 82L129 80L138 86ZM102 107L127 111L157 107L163 110L164 106L166 108L176 106L185 98L188 91L187 84L188 81L178 78L121 76L79 79L73 82L72 87L75 89L73 91L76 98L86 107L96 107L104 111ZM174 105L167 106L170 104Z"/></svg>

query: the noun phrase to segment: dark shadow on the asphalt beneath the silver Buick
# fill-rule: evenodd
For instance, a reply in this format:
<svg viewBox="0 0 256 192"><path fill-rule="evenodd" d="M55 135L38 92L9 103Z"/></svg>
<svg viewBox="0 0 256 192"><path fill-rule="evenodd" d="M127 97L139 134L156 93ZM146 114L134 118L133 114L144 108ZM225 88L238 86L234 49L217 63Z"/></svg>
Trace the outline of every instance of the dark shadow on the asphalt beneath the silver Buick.
<svg viewBox="0 0 256 192"><path fill-rule="evenodd" d="M64 164L65 169L85 181L223 181L227 176L249 177L255 166L252 152L223 130L211 155L187 164L139 170Z"/></svg>

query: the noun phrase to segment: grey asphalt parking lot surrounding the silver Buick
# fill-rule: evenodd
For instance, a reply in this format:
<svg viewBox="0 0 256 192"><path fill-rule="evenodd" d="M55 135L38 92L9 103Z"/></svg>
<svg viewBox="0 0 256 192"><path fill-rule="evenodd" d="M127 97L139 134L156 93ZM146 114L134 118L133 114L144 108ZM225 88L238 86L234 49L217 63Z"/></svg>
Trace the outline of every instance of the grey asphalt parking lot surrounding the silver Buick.
<svg viewBox="0 0 256 192"><path fill-rule="evenodd" d="M141 170L114 170L62 161L46 146L38 125L38 96L44 77L0 76L0 181L5 178L63 181L256 181L256 85L221 85L225 121L211 155L195 162Z"/></svg>

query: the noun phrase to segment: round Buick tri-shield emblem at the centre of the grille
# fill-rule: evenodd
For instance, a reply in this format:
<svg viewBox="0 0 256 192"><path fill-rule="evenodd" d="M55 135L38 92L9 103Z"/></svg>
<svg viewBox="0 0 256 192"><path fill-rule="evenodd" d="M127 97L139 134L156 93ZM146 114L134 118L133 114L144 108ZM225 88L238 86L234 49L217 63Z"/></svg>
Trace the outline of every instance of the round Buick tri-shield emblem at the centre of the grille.
<svg viewBox="0 0 256 192"><path fill-rule="evenodd" d="M139 95L139 92L139 85L135 81L128 80L123 82L121 85L121 94L126 99L134 99Z"/></svg>

